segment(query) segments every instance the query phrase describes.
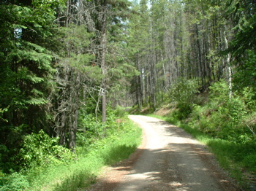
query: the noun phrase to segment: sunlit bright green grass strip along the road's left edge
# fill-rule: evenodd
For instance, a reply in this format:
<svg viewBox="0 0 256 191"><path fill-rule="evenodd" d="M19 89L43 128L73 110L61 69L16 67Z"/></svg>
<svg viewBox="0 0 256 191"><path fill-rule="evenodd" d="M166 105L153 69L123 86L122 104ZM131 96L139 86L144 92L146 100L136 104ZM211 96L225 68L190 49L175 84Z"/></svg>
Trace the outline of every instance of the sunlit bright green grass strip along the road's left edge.
<svg viewBox="0 0 256 191"><path fill-rule="evenodd" d="M140 145L141 135L142 130L132 121L127 120L119 132L97 141L86 154L77 154L78 157L72 163L50 166L46 169L37 168L26 174L18 174L19 179L22 177L19 182L23 189L15 189L44 191L86 189L95 182L103 166L127 159ZM83 149L78 148L78 150L83 153L81 151ZM10 187L12 185L1 187L0 190L10 190Z"/></svg>

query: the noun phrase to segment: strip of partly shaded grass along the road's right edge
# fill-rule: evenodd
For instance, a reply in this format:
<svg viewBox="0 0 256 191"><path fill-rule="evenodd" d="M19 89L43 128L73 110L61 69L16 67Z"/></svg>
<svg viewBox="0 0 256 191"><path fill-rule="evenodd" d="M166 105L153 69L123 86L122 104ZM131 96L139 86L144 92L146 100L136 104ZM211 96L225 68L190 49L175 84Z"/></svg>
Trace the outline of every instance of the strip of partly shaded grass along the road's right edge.
<svg viewBox="0 0 256 191"><path fill-rule="evenodd" d="M249 190L249 187L256 188L256 182L251 181L255 179L256 174L256 145L254 142L238 144L233 141L213 138L200 131L196 125L184 124L170 116L163 117L155 114L148 114L148 116L165 120L183 128L195 139L208 146L209 151L217 157L219 165L225 168L244 190Z"/></svg>

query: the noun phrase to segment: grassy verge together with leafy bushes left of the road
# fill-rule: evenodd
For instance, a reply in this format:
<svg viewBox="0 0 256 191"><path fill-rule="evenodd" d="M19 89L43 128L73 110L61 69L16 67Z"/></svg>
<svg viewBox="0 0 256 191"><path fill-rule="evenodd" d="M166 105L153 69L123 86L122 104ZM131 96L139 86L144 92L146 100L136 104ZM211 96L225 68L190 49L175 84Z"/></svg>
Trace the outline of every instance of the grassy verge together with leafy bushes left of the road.
<svg viewBox="0 0 256 191"><path fill-rule="evenodd" d="M87 128L91 134L88 130L78 133L76 154L56 145L56 140L43 131L26 136L20 155L24 156L25 166L30 168L19 174L0 172L0 190L72 191L93 184L104 165L129 157L141 141L141 129L128 119L123 120L119 131L111 121L114 118L110 115L104 139L99 129L94 128L95 122L89 121Z"/></svg>

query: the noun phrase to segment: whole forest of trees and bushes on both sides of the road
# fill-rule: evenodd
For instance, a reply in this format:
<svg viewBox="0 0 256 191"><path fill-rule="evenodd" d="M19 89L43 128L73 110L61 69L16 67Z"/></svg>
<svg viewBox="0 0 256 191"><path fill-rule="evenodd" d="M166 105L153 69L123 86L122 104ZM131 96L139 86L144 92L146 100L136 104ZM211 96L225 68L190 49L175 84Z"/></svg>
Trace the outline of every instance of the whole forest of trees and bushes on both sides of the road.
<svg viewBox="0 0 256 191"><path fill-rule="evenodd" d="M2 0L0 190L40 190L34 177L121 135L138 136L132 152L127 108L163 105L256 173L255 12L255 0Z"/></svg>

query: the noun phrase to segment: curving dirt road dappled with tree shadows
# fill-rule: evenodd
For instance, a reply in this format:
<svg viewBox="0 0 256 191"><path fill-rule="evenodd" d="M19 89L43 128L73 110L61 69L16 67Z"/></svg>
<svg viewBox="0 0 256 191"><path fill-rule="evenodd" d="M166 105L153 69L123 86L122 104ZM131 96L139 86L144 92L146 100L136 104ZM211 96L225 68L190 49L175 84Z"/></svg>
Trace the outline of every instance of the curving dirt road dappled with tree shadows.
<svg viewBox="0 0 256 191"><path fill-rule="evenodd" d="M154 117L129 118L143 129L143 144L90 190L238 190L205 146L181 128Z"/></svg>

